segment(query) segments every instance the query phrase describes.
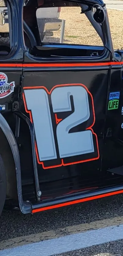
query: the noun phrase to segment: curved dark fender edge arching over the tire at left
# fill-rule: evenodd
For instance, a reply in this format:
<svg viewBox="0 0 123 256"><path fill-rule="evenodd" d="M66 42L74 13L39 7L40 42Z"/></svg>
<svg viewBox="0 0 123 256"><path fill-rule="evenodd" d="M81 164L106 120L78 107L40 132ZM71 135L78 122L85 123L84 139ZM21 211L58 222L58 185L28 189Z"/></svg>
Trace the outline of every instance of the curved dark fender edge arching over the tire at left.
<svg viewBox="0 0 123 256"><path fill-rule="evenodd" d="M7 141L5 142L5 137L6 137L8 142ZM12 177L14 176L14 173L16 172L16 176L14 177L12 182L15 183L14 180L16 180L15 186L17 186L17 194L18 194L20 210L21 210L22 213L29 213L29 212L31 212L31 205L27 202L24 202L23 197L22 197L20 156L19 156L18 146L17 146L16 139L13 135L13 132L12 132L9 124L7 123L7 121L2 116L1 113L0 113L0 141L1 142L4 141L3 148L5 148L5 145L7 147L6 148L7 149L6 155L8 155L8 152L9 152L10 154L8 156L13 156L13 158L11 157L11 159L10 159L10 164L14 160L14 165L15 165L14 170L12 170L13 174L9 174L9 173L6 174L7 181L9 180L9 177L11 177L11 179L13 179ZM10 146L9 149L8 149L8 146L7 146L8 143L9 143L9 146ZM11 149L11 152L10 152L10 149ZM2 152L2 147L0 147L0 151ZM12 153L12 155L11 155L11 153ZM5 167L9 166L9 159L7 159L6 155L2 156L3 161L5 162ZM12 166L13 166L13 163L12 163ZM9 170L10 170L10 168L9 168ZM11 181L8 181L8 188L7 188L7 192L10 194L11 193L10 192L11 185L9 183L11 183Z"/></svg>

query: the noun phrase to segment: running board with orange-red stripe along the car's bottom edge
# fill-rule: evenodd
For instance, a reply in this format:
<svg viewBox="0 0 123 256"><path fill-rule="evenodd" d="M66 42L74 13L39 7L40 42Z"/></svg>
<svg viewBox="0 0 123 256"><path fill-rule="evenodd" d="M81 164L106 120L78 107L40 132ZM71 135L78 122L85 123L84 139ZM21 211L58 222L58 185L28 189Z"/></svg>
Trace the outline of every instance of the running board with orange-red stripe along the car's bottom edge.
<svg viewBox="0 0 123 256"><path fill-rule="evenodd" d="M23 213L25 210L25 213L36 213L36 212L41 212L45 210L51 210L55 208L60 208L64 206L69 206L77 203L82 203L82 202L87 202L91 201L94 199L99 199L107 196L113 196L113 195L118 195L123 193L123 185L122 186L112 186L104 189L95 189L93 192L85 193L83 194L74 194L66 198L60 198L56 200L49 200L45 203L40 202L40 203L35 203L32 204L31 202L26 202L28 204L27 209L24 207L23 208ZM30 205L30 207L29 207Z"/></svg>

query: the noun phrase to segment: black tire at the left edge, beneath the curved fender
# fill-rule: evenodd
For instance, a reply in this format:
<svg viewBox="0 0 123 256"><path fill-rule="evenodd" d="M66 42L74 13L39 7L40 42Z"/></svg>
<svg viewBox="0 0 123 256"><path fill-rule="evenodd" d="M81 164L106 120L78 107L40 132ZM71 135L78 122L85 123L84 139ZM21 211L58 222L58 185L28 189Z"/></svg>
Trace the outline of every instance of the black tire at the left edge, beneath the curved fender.
<svg viewBox="0 0 123 256"><path fill-rule="evenodd" d="M0 155L0 215L4 207L5 196L6 196L6 175L5 175L4 163Z"/></svg>

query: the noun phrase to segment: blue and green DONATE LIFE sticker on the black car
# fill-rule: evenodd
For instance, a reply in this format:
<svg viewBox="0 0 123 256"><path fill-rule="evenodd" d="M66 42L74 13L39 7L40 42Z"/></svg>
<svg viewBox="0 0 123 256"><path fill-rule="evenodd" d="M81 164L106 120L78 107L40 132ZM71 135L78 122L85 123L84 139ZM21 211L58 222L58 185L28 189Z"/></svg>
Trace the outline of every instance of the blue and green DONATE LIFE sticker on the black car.
<svg viewBox="0 0 123 256"><path fill-rule="evenodd" d="M112 92L109 95L108 110L118 109L120 92Z"/></svg>

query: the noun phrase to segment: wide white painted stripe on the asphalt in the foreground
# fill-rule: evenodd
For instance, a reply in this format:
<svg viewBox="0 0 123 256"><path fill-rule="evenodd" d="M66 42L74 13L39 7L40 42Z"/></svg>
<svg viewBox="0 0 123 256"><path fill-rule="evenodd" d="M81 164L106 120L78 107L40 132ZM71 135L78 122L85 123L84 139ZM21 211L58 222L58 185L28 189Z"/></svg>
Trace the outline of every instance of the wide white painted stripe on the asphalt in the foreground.
<svg viewBox="0 0 123 256"><path fill-rule="evenodd" d="M44 240L0 251L1 256L51 256L123 239L123 225Z"/></svg>

